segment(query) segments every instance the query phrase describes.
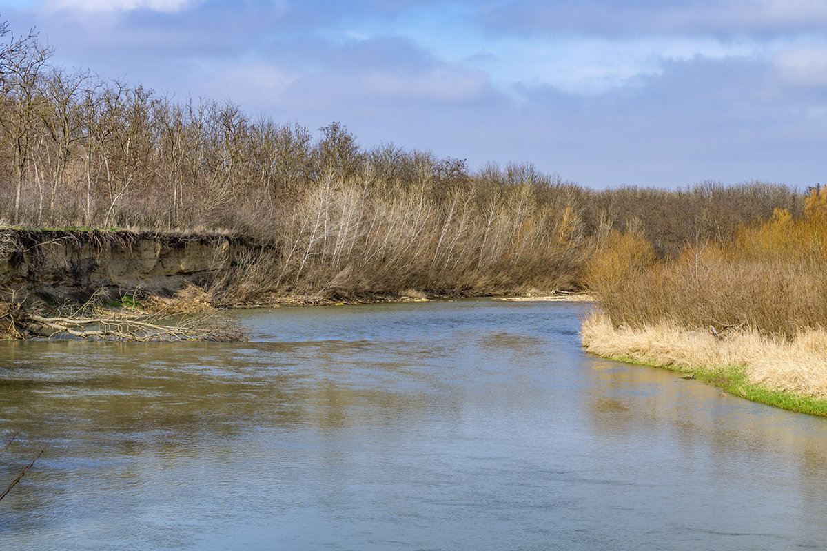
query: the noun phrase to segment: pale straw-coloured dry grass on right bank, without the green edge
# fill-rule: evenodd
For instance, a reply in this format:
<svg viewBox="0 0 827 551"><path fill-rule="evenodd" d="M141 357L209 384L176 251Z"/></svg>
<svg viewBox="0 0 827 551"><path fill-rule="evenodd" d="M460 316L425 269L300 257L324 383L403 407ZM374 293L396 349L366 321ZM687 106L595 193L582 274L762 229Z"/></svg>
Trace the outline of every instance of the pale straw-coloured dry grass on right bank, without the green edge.
<svg viewBox="0 0 827 551"><path fill-rule="evenodd" d="M587 351L607 358L686 372L743 366L753 384L827 397L825 330L801 330L791 340L755 330L734 330L721 338L676 323L615 327L609 316L598 311L583 322L581 337Z"/></svg>

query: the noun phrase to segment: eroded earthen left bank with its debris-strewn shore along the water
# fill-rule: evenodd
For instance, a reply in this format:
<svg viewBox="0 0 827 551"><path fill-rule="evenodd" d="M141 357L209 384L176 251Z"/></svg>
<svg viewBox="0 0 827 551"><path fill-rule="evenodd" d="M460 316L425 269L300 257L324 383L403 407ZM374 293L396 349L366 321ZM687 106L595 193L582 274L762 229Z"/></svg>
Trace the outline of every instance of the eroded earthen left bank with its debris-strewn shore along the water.
<svg viewBox="0 0 827 551"><path fill-rule="evenodd" d="M0 338L49 335L54 327L44 328L43 318L63 323L68 318L115 321L233 307L581 298L556 289L459 284L303 291L274 282L279 254L272 243L221 233L0 228ZM34 318L41 321L31 323Z"/></svg>

